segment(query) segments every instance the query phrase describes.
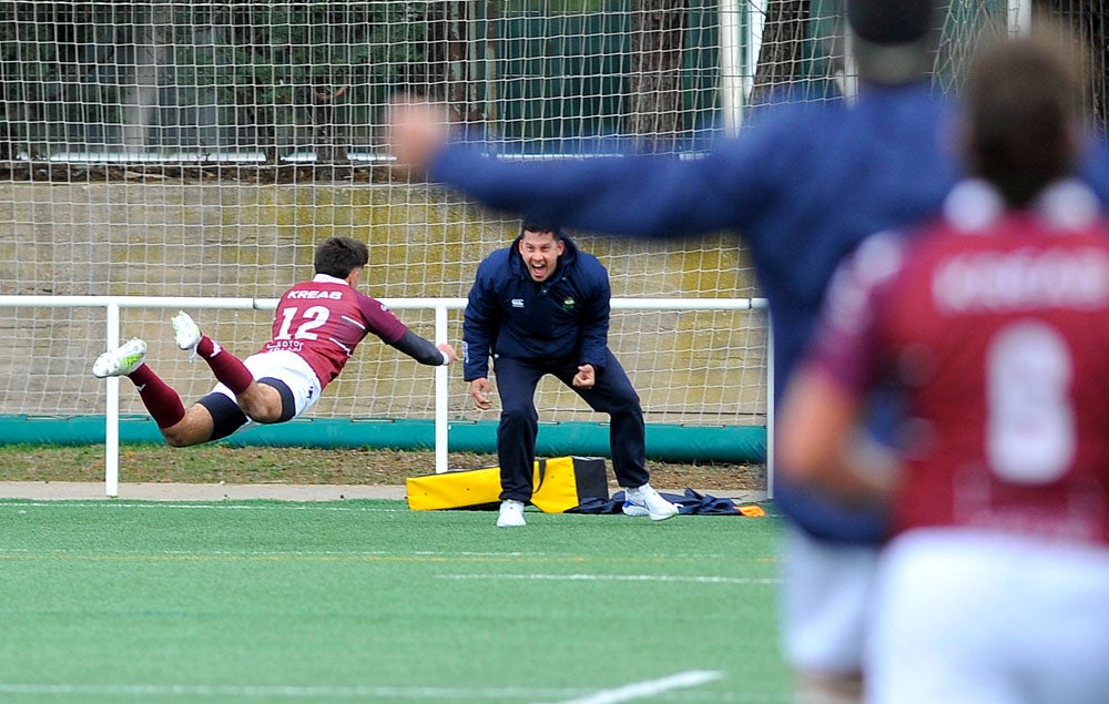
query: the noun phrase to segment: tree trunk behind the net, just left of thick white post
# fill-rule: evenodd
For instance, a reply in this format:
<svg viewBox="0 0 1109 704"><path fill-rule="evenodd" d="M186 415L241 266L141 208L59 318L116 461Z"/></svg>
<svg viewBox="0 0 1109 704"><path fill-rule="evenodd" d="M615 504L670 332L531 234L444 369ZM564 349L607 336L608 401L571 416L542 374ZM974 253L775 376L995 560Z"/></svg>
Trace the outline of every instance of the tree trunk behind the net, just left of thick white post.
<svg viewBox="0 0 1109 704"><path fill-rule="evenodd" d="M672 151L683 129L682 48L689 3L637 0L628 132L649 151Z"/></svg>

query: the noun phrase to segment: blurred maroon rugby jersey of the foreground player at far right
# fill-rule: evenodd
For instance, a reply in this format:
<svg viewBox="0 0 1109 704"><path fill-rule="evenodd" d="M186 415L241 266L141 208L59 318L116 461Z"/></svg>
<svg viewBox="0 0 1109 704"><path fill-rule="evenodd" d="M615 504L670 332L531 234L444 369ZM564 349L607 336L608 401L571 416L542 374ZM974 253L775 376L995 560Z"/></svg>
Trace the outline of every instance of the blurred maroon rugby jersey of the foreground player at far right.
<svg viewBox="0 0 1109 704"><path fill-rule="evenodd" d="M1075 184L1005 212L980 183L836 277L814 361L906 392L898 530L1109 543L1109 224Z"/></svg>

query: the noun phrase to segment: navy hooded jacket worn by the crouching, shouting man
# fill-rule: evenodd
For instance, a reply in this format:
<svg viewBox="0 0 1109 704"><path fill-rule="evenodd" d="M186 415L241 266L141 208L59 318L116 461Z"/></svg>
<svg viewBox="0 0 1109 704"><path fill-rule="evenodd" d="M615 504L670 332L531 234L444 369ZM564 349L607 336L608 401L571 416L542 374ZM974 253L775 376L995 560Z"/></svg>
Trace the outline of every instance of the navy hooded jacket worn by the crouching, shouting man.
<svg viewBox="0 0 1109 704"><path fill-rule="evenodd" d="M609 273L562 236L558 268L536 282L517 237L478 265L462 323L462 374L489 376L489 353L510 359L570 359L604 368L609 337Z"/></svg>

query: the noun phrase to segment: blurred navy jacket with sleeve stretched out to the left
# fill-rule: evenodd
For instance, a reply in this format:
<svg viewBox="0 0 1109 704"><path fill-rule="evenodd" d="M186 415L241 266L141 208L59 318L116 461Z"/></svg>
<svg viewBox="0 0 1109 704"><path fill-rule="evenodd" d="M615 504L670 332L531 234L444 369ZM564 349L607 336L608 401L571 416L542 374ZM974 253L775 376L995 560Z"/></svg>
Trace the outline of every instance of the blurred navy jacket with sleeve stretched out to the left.
<svg viewBox="0 0 1109 704"><path fill-rule="evenodd" d="M436 181L496 208L563 226L658 238L732 231L750 248L774 330L774 398L805 351L824 289L861 239L938 211L959 176L955 112L920 82L868 86L857 102L766 108L701 159L627 155L509 162L445 149ZM1109 160L1087 177L1109 195ZM893 419L877 418L879 427ZM779 507L811 533L875 542L884 517L787 486Z"/></svg>

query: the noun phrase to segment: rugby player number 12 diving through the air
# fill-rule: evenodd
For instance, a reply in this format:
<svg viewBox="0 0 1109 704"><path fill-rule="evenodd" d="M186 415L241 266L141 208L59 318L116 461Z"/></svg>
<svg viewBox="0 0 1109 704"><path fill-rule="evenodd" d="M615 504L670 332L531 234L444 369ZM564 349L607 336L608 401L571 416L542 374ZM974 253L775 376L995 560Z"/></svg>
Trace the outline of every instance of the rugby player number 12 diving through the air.
<svg viewBox="0 0 1109 704"><path fill-rule="evenodd" d="M380 302L357 290L369 261L366 244L328 237L317 248L315 276L285 292L277 304L273 337L246 359L234 356L184 312L173 317L177 347L193 350L218 380L212 392L185 409L181 397L145 364L146 343L132 339L102 354L95 377L126 376L165 441L187 447L218 440L247 422L275 424L312 408L339 375L355 347L373 333L425 365L447 365L458 356L409 330Z"/></svg>

